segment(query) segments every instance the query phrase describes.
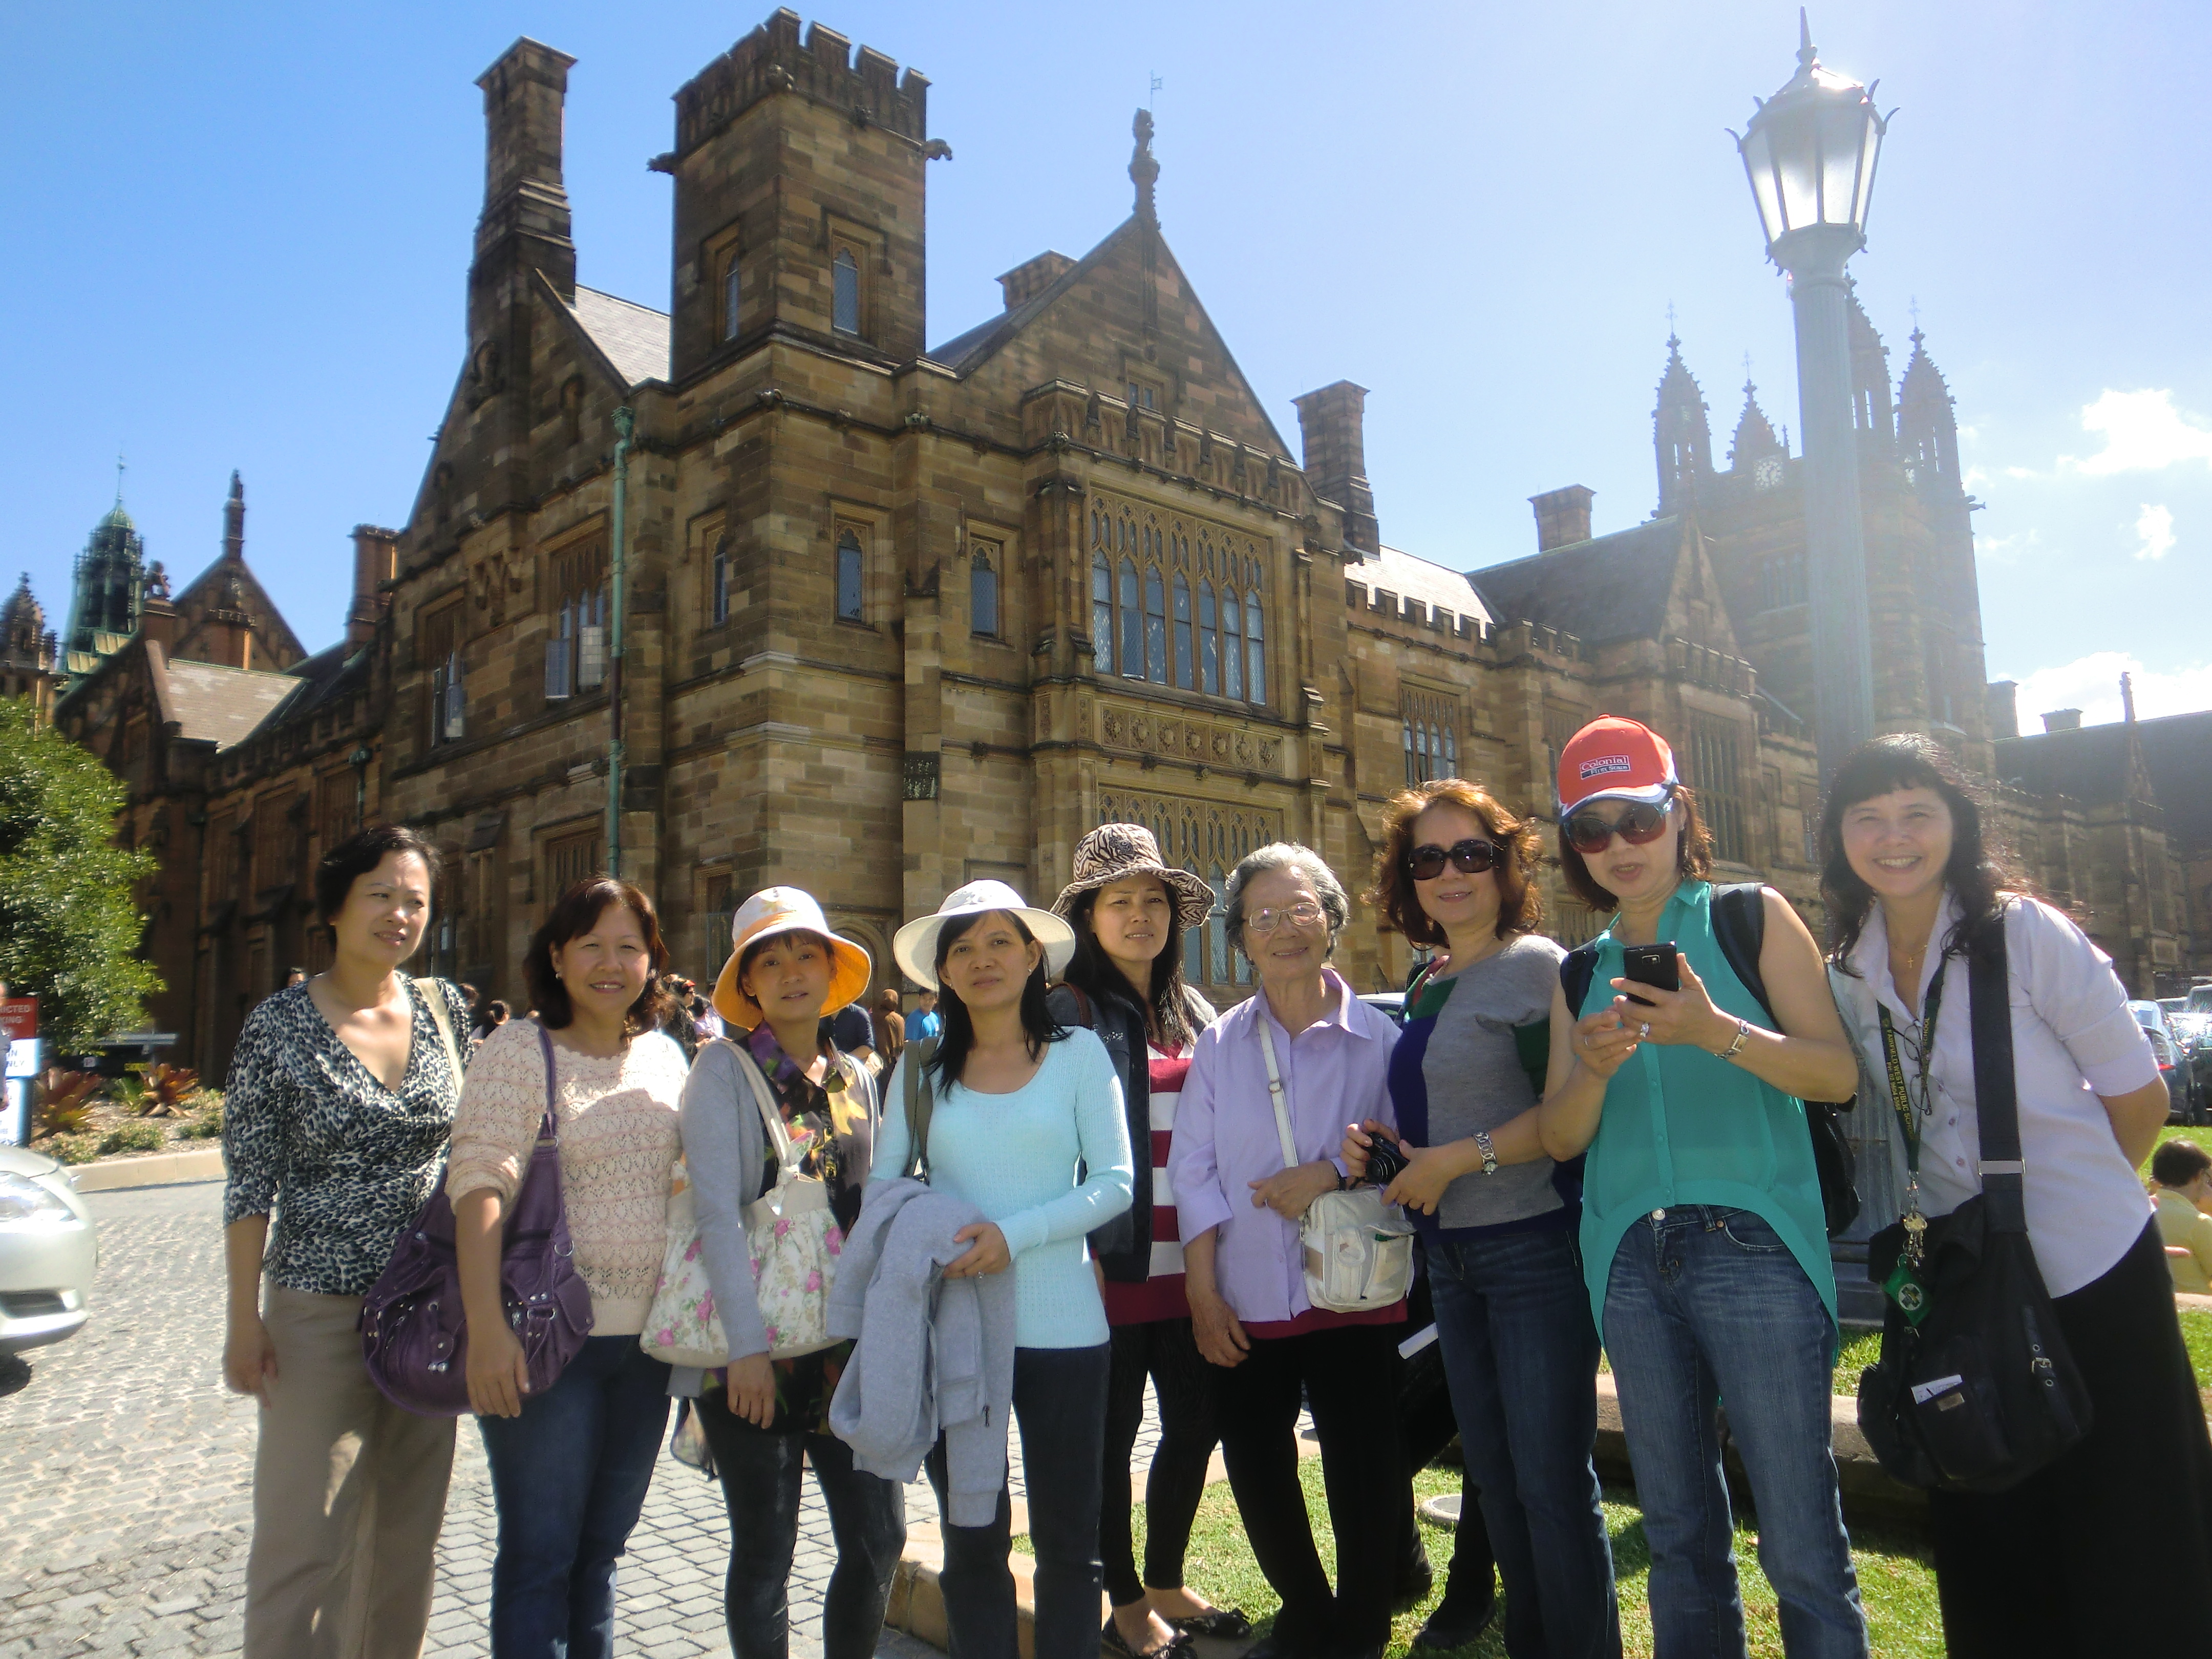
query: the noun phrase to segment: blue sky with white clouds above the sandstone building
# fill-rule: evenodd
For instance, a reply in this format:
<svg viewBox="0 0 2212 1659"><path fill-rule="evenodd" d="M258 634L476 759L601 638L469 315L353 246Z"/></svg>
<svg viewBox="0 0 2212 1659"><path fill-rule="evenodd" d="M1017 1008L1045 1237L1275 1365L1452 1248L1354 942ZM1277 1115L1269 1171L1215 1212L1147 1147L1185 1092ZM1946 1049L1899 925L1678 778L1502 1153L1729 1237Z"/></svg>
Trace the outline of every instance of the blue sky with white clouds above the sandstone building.
<svg viewBox="0 0 2212 1659"><path fill-rule="evenodd" d="M668 303L670 93L768 4L69 4L0 11L0 573L66 613L126 498L179 577L248 557L310 648L347 531L405 520L462 358L482 192L471 84L520 33L580 62L580 281ZM1790 310L1725 126L1792 71L1796 9L991 7L807 13L931 77L929 336L993 276L1128 212L1155 97L1159 210L1296 442L1290 398L1369 387L1383 533L1471 568L1533 551L1526 498L1650 513L1668 305L1725 453L1743 356L1796 420ZM1902 113L1860 294L1905 367L1918 301L1958 398L1993 677L2022 712L2212 706L2212 265L2199 66L2212 9L1891 0L1814 9L1823 60Z"/></svg>

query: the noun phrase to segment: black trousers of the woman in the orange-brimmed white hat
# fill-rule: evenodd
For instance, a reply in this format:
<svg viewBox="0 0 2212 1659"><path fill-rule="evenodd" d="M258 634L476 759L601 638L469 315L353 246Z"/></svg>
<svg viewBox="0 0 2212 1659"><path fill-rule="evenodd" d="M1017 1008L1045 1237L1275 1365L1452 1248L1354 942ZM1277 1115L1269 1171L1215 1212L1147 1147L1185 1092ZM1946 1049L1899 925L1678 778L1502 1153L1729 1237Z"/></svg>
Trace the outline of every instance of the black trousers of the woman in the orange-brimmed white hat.
<svg viewBox="0 0 2212 1659"><path fill-rule="evenodd" d="M752 1427L730 1413L721 1389L699 1396L697 1411L730 1509L730 1573L721 1590L730 1652L737 1659L785 1659L790 1652L801 1464L812 1464L836 1540L836 1568L823 1593L823 1659L869 1659L907 1546L905 1491L854 1469L843 1440Z"/></svg>

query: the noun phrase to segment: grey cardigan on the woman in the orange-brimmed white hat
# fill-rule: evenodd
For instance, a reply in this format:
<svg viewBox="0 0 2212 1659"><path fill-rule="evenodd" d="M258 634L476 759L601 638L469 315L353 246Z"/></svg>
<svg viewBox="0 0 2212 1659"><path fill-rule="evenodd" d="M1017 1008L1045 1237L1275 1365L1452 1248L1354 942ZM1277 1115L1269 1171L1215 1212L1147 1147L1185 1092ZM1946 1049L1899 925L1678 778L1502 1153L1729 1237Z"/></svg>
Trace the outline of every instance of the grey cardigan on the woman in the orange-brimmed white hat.
<svg viewBox="0 0 2212 1659"><path fill-rule="evenodd" d="M841 1055L843 1060L843 1055ZM752 1084L739 1075L750 1066L730 1042L710 1042L692 1062L684 1084L684 1168L690 1175L692 1210L699 1219L699 1261L714 1292L714 1312L730 1338L730 1358L765 1354L768 1321L752 1296L752 1250L745 1243L745 1206L759 1197L768 1159L768 1130ZM869 1115L876 1086L867 1071L845 1062L845 1084L860 1091ZM863 1172L865 1179L865 1172ZM684 1387L686 1380L690 1387ZM677 1371L670 1394L697 1394L699 1371Z"/></svg>

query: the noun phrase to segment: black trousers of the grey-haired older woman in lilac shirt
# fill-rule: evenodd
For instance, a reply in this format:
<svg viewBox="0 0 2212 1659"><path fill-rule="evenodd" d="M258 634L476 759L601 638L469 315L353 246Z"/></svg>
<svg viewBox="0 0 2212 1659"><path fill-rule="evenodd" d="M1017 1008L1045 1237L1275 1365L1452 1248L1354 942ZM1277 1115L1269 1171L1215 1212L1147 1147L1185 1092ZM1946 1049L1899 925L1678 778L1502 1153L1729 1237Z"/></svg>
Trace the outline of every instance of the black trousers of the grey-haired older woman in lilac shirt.
<svg viewBox="0 0 2212 1659"><path fill-rule="evenodd" d="M1400 1325L1340 1325L1254 1338L1217 1378L1221 1460L1252 1557L1283 1597L1276 1641L1338 1659L1389 1641L1389 1604L1405 1546L1405 1453L1398 1436ZM1336 1535L1336 1593L1321 1571L1298 1486L1298 1391L1321 1436L1321 1478Z"/></svg>

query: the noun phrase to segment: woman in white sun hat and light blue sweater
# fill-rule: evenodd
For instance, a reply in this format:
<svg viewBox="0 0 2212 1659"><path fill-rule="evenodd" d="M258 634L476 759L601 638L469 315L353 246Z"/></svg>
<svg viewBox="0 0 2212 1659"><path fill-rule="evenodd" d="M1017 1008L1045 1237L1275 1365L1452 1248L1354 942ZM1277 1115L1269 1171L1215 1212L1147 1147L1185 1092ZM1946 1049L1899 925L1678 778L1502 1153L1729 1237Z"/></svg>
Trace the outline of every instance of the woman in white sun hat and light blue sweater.
<svg viewBox="0 0 2212 1659"><path fill-rule="evenodd" d="M960 887L891 940L898 967L940 993L945 1029L909 1044L891 1073L876 1177L907 1168L907 1068L933 1095L929 1183L989 1221L962 1228L969 1252L947 1276L1015 1272L1013 1413L1037 1557L1035 1648L1095 1652L1099 1641L1099 1480L1108 1329L1084 1237L1130 1203L1121 1079L1088 1031L1057 1024L1046 980L1075 953L1075 929L1002 880ZM1082 1179L1077 1179L1082 1177ZM929 1484L947 1504L945 1442ZM989 1526L945 1524L945 1617L953 1650L1013 1659L1013 1575L1004 1489Z"/></svg>

